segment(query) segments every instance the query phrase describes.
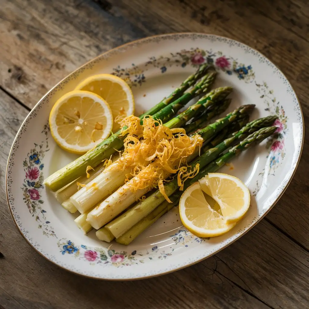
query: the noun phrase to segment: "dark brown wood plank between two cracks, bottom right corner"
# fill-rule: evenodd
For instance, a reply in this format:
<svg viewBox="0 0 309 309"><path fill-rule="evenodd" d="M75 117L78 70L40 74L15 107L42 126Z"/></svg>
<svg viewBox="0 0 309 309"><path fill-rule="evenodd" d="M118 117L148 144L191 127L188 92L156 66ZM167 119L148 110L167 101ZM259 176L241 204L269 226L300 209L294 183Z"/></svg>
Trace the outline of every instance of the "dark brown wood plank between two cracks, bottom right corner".
<svg viewBox="0 0 309 309"><path fill-rule="evenodd" d="M309 308L309 253L265 220L214 259L219 273L270 307Z"/></svg>

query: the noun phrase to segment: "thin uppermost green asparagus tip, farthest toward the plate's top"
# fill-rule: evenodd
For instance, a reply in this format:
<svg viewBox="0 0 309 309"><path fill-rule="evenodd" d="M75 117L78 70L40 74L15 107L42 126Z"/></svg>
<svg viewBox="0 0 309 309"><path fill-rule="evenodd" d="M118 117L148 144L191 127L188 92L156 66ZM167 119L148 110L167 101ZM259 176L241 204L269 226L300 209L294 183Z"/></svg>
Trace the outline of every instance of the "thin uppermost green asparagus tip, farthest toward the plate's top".
<svg viewBox="0 0 309 309"><path fill-rule="evenodd" d="M154 115L155 113L159 112L162 108L167 106L168 104L172 103L176 99L180 98L184 91L188 88L192 87L197 80L199 80L202 76L206 74L206 72L210 69L211 66L208 64L204 64L198 68L198 70L190 75L178 88L176 88L167 98L164 98L161 102L155 105L153 108L150 108L147 112L140 116L143 119L147 115Z"/></svg>

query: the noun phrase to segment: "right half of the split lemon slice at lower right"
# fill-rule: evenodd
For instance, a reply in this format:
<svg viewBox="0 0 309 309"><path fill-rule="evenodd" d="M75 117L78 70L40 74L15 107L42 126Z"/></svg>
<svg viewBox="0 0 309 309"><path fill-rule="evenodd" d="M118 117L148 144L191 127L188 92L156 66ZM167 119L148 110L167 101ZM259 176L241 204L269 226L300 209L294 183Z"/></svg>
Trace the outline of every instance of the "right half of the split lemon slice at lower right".
<svg viewBox="0 0 309 309"><path fill-rule="evenodd" d="M209 173L199 180L201 189L220 206L226 222L237 222L250 206L250 192L238 178L221 173Z"/></svg>

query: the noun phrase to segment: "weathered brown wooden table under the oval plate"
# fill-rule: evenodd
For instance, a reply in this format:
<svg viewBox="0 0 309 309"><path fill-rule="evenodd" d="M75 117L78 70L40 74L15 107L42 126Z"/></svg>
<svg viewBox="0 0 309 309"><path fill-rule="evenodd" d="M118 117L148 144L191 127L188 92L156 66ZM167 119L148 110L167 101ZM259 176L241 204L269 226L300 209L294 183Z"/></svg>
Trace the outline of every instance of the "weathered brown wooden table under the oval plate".
<svg viewBox="0 0 309 309"><path fill-rule="evenodd" d="M217 255L161 277L96 281L51 264L8 211L6 160L42 95L84 62L168 32L228 36L286 74L309 124L307 0L0 0L0 308L309 308L309 137L286 193ZM0 256L1 257L1 256Z"/></svg>

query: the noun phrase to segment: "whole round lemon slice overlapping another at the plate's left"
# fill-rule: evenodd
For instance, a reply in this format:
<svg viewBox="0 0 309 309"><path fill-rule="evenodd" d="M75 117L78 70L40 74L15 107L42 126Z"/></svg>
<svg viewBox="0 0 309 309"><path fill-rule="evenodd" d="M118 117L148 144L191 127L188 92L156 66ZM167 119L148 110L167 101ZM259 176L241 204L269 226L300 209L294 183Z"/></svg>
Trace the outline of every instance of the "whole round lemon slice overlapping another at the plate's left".
<svg viewBox="0 0 309 309"><path fill-rule="evenodd" d="M49 114L50 132L69 152L83 154L108 137L112 111L104 99L89 91L71 91L57 100Z"/></svg>

